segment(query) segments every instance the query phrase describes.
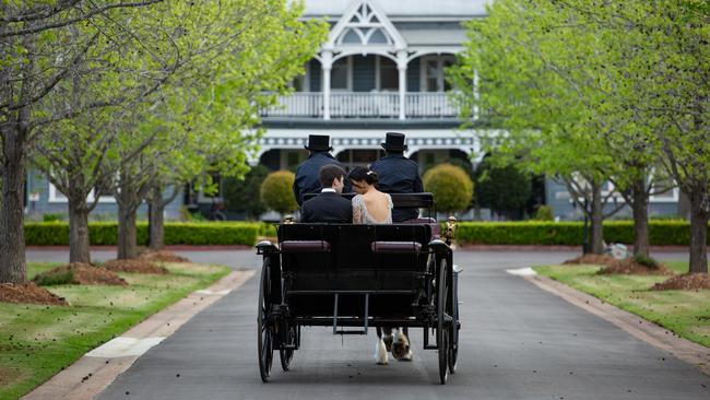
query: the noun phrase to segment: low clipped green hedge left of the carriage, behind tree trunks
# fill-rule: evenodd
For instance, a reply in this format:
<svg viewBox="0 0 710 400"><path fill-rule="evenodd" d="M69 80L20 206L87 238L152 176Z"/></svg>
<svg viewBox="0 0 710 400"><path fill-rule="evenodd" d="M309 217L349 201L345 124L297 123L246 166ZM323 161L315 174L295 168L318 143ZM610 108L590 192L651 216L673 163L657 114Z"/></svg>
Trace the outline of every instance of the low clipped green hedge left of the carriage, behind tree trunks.
<svg viewBox="0 0 710 400"><path fill-rule="evenodd" d="M147 245L147 223L137 224L138 244ZM260 223L253 222L166 222L166 245L248 245L257 242ZM91 222L88 239L92 245L118 244L116 222ZM28 246L69 245L69 223L28 222L25 224L25 244Z"/></svg>

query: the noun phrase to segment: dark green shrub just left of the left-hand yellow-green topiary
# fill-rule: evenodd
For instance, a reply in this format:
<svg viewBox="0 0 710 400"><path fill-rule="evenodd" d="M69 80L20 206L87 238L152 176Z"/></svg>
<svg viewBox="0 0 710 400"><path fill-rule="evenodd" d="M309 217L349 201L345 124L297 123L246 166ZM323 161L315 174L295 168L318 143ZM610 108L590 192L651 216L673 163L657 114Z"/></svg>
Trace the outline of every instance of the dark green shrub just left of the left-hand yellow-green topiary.
<svg viewBox="0 0 710 400"><path fill-rule="evenodd" d="M257 220L267 211L260 196L255 196L261 189L261 184L269 175L269 168L263 165L252 167L244 179L225 178L222 183L222 198L228 211L244 212L247 217Z"/></svg>

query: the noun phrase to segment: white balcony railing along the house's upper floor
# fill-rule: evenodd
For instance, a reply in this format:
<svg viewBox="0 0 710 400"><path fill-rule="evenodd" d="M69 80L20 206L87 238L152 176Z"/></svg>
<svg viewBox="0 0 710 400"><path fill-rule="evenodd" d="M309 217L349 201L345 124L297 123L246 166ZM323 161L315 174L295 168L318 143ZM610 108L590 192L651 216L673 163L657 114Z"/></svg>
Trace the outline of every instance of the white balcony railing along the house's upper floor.
<svg viewBox="0 0 710 400"><path fill-rule="evenodd" d="M261 110L262 118L303 119L453 119L458 107L441 92L297 92ZM401 105L404 113L401 113Z"/></svg>

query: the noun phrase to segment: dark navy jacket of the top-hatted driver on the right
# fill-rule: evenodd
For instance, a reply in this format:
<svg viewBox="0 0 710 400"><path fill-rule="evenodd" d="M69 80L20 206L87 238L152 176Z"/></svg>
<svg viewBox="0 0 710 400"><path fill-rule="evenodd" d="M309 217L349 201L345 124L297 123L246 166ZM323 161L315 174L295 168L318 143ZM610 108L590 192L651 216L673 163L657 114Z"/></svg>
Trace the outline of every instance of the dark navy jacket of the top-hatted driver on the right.
<svg viewBox="0 0 710 400"><path fill-rule="evenodd" d="M424 191L419 166L402 154L389 154L370 165L379 176L377 188L386 193L421 193ZM392 222L404 222L419 216L417 209L392 210Z"/></svg>

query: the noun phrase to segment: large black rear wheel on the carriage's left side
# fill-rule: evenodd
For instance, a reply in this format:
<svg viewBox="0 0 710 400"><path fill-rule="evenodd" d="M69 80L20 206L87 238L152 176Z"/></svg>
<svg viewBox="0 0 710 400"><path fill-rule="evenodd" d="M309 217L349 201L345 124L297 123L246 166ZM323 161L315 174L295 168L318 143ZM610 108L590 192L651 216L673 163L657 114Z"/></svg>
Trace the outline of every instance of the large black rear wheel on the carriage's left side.
<svg viewBox="0 0 710 400"><path fill-rule="evenodd" d="M259 309L257 315L259 374L263 383L269 381L273 364L274 329L271 320L271 267L269 258L264 258L259 285Z"/></svg>

